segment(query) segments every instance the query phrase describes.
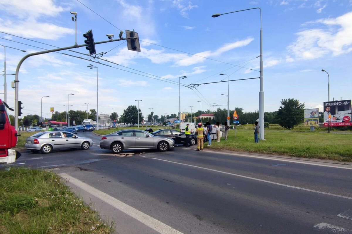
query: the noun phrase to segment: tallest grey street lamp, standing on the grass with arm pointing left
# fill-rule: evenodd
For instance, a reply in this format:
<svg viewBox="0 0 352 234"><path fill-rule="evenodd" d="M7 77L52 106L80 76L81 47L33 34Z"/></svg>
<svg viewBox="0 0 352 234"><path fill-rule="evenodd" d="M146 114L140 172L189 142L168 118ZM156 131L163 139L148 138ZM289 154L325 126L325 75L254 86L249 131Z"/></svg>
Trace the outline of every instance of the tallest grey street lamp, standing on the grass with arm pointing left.
<svg viewBox="0 0 352 234"><path fill-rule="evenodd" d="M241 11L248 11L248 10L253 10L253 9L259 9L260 11L260 63L259 63L259 137L260 140L265 140L264 138L264 88L263 88L263 34L262 34L262 9L260 7L255 7L255 8L249 8L249 9L244 9L244 10L239 10L239 11L233 11L233 12L228 12L228 13L223 13L223 14L214 14L212 15L213 18L218 17L220 15L225 15L225 14L230 14L230 13L235 13L235 12L241 12ZM229 122L229 120L228 120Z"/></svg>

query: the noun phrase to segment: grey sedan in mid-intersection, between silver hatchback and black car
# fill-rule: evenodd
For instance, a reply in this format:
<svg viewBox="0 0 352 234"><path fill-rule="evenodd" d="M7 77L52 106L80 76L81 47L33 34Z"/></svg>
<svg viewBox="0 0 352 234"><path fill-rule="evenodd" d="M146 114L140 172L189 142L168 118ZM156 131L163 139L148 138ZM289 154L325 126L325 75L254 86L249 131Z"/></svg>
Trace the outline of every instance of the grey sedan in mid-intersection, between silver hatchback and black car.
<svg viewBox="0 0 352 234"><path fill-rule="evenodd" d="M153 136L143 130L124 129L103 135L100 148L111 149L113 153L121 153L124 149L158 149L168 151L175 147L171 138Z"/></svg>

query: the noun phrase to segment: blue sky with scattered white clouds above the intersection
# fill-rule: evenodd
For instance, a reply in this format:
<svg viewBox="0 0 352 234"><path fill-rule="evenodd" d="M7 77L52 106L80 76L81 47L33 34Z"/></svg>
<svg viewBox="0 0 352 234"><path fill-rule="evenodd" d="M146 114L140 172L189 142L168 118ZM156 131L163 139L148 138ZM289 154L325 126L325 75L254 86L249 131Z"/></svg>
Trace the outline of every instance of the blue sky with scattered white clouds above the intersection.
<svg viewBox="0 0 352 234"><path fill-rule="evenodd" d="M99 67L99 113L103 114L111 113L112 108L121 114L127 106L137 105L136 99L143 100L140 109L144 115L149 112L148 108L153 108L159 116L177 113L178 76L187 75L188 78L181 81L186 85L199 80L201 83L220 81L225 76L214 74L224 70L222 73L232 74L230 79L259 77L259 72L253 71L259 70L259 58L255 59L259 55L259 11L211 17L215 13L253 7L262 8L265 111L276 111L281 99L286 98L298 99L305 102L307 108L319 107L322 111L322 103L328 98L327 74L321 72L322 68L330 74L331 99L352 98L351 0L81 2L118 29L134 29L144 41L140 42L140 53L128 51L126 43L120 45L121 42L97 45L97 53L109 51L103 58L171 83L58 53L33 56L23 63L19 74L19 100L25 106L22 111L25 115L40 114L40 99L46 95L50 97L43 99L44 117L50 113L50 107L64 111L69 93L75 94L70 96L72 109L86 110L84 103L92 103L90 108L96 108L96 73L95 69L87 67L90 63ZM70 11L78 13L78 44L84 44L82 34L89 29L93 30L95 41L107 40L106 34L115 34L115 38L119 34L117 28L76 0L0 0L0 7L3 9L1 32L57 47L75 44L75 24L71 21ZM0 37L46 49L54 48L4 33L0 33ZM0 39L0 44L25 49L27 53L41 50L5 39ZM75 51L87 53L84 47ZM6 52L7 74L14 73L25 53L11 48L7 48ZM68 51L64 53L80 56ZM0 64L3 64L3 59L0 47ZM233 66L239 64L245 68ZM8 103L11 106L14 105L13 79L14 76L7 76ZM204 97L181 86L181 112L186 108L190 112L189 106L199 110L200 103L197 101L202 101L203 110L214 109L208 106L214 102L227 104L226 96L221 95L227 94L226 82L201 85L197 89ZM259 79L230 82L230 108L258 110L258 92Z"/></svg>

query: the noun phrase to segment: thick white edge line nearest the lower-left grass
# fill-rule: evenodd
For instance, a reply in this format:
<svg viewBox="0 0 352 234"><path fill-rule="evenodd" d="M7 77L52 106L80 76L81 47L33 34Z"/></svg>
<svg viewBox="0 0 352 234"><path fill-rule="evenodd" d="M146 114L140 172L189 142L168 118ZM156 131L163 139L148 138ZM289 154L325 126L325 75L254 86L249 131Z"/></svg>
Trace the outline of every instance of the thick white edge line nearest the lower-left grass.
<svg viewBox="0 0 352 234"><path fill-rule="evenodd" d="M178 230L166 225L165 223L162 223L151 216L144 214L143 212L140 212L139 210L127 205L126 203L106 194L103 193L102 191L66 174L66 173L61 173L59 174L62 178L69 180L70 183L73 183L77 187L80 187L81 189L85 190L86 192L94 195L95 197L99 198L102 201L105 201L109 205L117 208L118 210L121 210L125 214L130 215L132 218L138 220L139 222L142 222L144 225L152 228L153 230L156 230L157 232L161 234L183 234L179 232Z"/></svg>

